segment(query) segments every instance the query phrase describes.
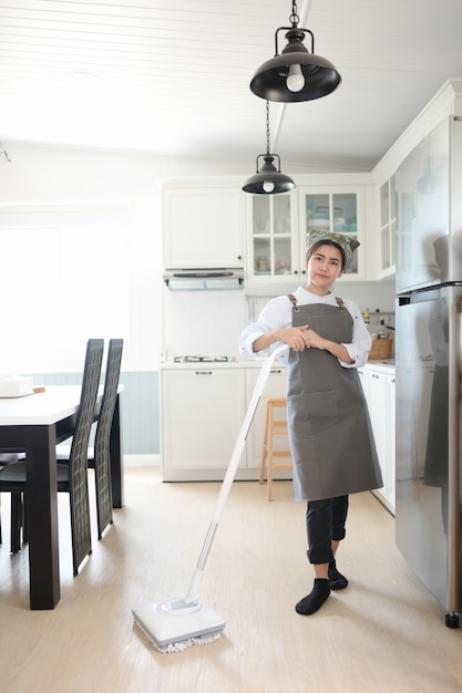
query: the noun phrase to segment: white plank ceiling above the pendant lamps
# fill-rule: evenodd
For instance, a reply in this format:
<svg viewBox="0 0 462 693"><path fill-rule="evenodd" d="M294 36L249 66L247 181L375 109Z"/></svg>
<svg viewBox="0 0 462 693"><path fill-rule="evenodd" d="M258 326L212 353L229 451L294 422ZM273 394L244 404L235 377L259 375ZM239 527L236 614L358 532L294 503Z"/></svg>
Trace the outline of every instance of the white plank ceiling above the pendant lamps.
<svg viewBox="0 0 462 693"><path fill-rule="evenodd" d="M370 170L444 82L462 76L461 0L297 4L342 83L317 101L271 103L270 148L286 172ZM249 81L291 10L289 0L0 0L0 142L254 167L266 151L266 102Z"/></svg>

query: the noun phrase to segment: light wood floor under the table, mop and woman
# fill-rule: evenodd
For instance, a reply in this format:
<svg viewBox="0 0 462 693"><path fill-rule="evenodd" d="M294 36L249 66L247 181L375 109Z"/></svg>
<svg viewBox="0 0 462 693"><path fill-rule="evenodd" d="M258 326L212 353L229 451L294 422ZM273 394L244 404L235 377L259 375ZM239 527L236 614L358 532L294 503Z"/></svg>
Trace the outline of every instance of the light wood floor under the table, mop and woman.
<svg viewBox="0 0 462 693"><path fill-rule="evenodd" d="M92 484L92 479L91 479ZM393 518L371 494L351 497L338 566L350 579L311 617L305 506L291 483L235 483L201 594L227 625L215 643L157 652L131 609L184 596L219 484L162 484L156 468L129 468L125 507L78 578L72 577L68 498L60 496L62 599L29 610L28 551L0 548L0 689L3 693L445 693L462 690L462 629L413 577L393 544Z"/></svg>

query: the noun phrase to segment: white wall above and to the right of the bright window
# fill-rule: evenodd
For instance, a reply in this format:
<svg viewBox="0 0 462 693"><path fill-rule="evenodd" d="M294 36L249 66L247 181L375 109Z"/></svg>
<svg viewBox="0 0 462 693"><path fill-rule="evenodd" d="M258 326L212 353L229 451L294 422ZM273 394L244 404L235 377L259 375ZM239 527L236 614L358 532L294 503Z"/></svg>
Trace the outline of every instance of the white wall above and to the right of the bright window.
<svg viewBox="0 0 462 693"><path fill-rule="evenodd" d="M132 211L129 231L131 251L126 269L131 282L132 333L124 335L124 368L156 368L162 348L163 291L160 182L179 176L238 173L239 168L245 170L245 164L235 164L230 172L233 166L225 162L27 144L11 144L6 148L11 162L6 157L0 159L0 211L37 211L40 207L52 210L65 206L75 209L92 205L129 206ZM249 170L251 166L253 163L249 163ZM244 173L243 177L246 175ZM4 248L2 255L4 258ZM40 257L35 261L35 280L40 281ZM89 271L97 270L90 269L89 263ZM13 291L9 300L12 296ZM71 311L69 319L72 319ZM66 366L79 368L80 361Z"/></svg>

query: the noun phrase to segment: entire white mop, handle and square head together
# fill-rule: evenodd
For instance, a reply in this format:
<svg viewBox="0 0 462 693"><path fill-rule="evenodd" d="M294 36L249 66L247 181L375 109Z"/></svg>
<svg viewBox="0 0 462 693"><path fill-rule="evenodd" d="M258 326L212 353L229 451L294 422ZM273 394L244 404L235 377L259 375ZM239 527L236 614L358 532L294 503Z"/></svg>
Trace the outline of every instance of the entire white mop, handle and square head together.
<svg viewBox="0 0 462 693"><path fill-rule="evenodd" d="M158 603L144 603L132 609L134 622L160 652L181 652L192 644L214 642L226 625L222 617L199 600L201 579L273 362L286 349L286 344L275 349L266 356L260 369L186 596Z"/></svg>

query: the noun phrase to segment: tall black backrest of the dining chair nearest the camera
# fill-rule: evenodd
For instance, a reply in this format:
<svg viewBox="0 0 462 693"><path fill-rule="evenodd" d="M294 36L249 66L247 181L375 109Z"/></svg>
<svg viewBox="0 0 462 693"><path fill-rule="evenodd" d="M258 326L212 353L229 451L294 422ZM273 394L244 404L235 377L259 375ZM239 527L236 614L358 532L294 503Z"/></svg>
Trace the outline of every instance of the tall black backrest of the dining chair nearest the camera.
<svg viewBox="0 0 462 693"><path fill-rule="evenodd" d="M74 575L91 551L90 503L88 485L88 448L93 424L104 340L91 339L86 344L82 392L69 457L69 495L71 503L72 558Z"/></svg>

